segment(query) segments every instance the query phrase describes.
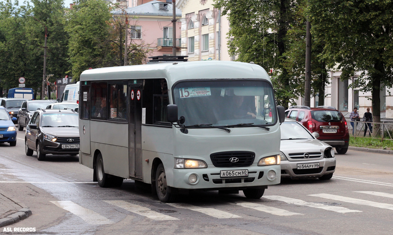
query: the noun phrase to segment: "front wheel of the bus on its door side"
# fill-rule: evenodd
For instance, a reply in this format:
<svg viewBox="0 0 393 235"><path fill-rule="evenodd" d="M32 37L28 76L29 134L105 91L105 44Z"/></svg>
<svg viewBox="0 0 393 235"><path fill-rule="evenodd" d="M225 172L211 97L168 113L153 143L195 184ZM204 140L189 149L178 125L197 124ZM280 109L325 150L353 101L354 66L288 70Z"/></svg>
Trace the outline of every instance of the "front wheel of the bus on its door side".
<svg viewBox="0 0 393 235"><path fill-rule="evenodd" d="M158 165L156 171L156 191L158 199L162 202L173 202L176 199L174 189L167 186L165 168L162 163Z"/></svg>

